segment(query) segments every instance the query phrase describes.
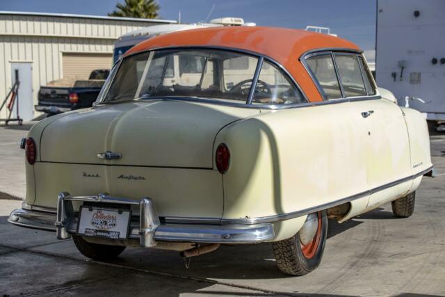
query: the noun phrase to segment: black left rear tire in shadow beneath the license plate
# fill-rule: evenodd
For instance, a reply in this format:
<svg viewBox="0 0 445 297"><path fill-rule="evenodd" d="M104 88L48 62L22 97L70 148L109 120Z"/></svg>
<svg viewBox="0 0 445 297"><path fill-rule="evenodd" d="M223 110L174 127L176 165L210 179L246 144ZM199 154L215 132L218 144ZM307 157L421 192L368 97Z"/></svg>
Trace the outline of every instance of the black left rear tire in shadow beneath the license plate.
<svg viewBox="0 0 445 297"><path fill-rule="evenodd" d="M125 250L125 246L108 246L106 244L89 243L81 236L74 234L72 240L82 255L100 261L115 259Z"/></svg>

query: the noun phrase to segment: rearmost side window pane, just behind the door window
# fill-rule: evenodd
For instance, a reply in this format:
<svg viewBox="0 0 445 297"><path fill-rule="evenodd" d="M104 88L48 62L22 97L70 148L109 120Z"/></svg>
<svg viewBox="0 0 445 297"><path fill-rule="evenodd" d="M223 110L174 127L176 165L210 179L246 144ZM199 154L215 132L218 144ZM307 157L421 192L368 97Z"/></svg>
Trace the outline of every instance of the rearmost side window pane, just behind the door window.
<svg viewBox="0 0 445 297"><path fill-rule="evenodd" d="M332 56L330 54L311 56L306 59L306 63L318 81L323 93L325 93L326 99L341 98Z"/></svg>

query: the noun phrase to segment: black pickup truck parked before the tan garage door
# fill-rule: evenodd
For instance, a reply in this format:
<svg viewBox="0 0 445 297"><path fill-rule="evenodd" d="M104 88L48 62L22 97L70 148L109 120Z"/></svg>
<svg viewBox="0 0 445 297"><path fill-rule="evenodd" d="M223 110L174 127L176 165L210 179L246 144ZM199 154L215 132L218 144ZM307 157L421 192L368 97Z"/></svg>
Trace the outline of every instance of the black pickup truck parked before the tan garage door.
<svg viewBox="0 0 445 297"><path fill-rule="evenodd" d="M42 86L35 110L54 115L90 107L96 101L109 73L110 70L105 69L93 70L88 80L77 80L74 83L60 80L59 83L56 81L49 83L49 86Z"/></svg>

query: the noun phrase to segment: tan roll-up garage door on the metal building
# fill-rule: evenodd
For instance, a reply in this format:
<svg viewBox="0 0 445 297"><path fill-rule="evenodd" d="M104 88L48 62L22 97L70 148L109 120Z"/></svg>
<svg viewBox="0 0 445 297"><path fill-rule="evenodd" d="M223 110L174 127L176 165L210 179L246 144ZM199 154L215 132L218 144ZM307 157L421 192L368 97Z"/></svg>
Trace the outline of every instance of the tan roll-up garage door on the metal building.
<svg viewBox="0 0 445 297"><path fill-rule="evenodd" d="M77 77L88 79L95 69L110 69L113 65L113 54L63 53L63 78Z"/></svg>

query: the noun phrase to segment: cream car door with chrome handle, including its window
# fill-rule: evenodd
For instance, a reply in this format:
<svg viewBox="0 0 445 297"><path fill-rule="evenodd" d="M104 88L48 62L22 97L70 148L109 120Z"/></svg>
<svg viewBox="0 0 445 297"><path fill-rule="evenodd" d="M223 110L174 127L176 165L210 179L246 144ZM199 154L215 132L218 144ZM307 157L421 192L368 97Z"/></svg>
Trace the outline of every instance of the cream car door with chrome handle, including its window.
<svg viewBox="0 0 445 297"><path fill-rule="evenodd" d="M410 188L410 144L401 109L387 99L372 97L375 85L362 57L336 53L343 96L350 98L362 117L366 140L369 206L391 200ZM367 97L367 99L365 99Z"/></svg>

